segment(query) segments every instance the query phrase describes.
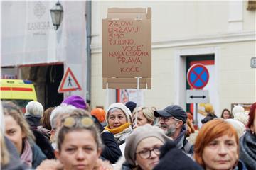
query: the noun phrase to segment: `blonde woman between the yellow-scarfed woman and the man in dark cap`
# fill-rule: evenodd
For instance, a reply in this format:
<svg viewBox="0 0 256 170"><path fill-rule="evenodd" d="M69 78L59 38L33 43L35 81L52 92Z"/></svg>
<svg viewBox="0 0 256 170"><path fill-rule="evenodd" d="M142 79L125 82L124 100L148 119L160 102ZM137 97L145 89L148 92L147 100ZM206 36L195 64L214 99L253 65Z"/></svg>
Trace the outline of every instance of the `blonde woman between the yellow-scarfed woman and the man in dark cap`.
<svg viewBox="0 0 256 170"><path fill-rule="evenodd" d="M132 122L133 123L135 123L137 110L138 110L137 124L133 125L132 128L137 128L137 127L145 125L145 124L154 125L154 119L155 119L154 110L149 107L139 107L138 109L135 108L132 113L132 119L133 119Z"/></svg>

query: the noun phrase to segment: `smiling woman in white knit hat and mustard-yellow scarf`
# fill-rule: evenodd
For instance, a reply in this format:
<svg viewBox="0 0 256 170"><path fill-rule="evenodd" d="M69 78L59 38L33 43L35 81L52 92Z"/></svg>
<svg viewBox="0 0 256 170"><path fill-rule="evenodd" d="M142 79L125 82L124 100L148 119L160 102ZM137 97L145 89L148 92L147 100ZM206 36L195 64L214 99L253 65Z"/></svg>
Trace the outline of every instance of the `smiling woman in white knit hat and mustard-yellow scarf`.
<svg viewBox="0 0 256 170"><path fill-rule="evenodd" d="M114 135L121 151L124 147L125 138L132 132L131 120L132 113L123 103L112 103L107 108L106 114L107 126L105 130ZM122 147L120 146L122 145Z"/></svg>

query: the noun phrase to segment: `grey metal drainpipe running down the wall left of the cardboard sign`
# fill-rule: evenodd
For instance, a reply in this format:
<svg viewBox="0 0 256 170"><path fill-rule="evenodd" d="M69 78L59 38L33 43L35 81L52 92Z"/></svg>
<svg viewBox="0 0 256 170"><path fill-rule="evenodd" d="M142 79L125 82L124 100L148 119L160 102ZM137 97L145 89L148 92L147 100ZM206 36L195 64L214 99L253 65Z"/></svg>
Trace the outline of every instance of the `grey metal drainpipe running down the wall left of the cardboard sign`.
<svg viewBox="0 0 256 170"><path fill-rule="evenodd" d="M92 39L92 1L86 1L86 29L87 29L87 95L86 101L90 103L91 98L91 39Z"/></svg>

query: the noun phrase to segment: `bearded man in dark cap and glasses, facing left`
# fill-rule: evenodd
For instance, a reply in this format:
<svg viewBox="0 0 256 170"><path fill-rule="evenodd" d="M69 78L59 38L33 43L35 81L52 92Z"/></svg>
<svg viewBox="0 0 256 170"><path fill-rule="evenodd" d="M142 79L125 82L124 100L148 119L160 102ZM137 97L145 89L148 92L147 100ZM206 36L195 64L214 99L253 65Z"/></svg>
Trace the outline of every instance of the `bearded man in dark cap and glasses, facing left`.
<svg viewBox="0 0 256 170"><path fill-rule="evenodd" d="M187 154L193 154L193 145L186 140L187 114L178 105L171 105L164 110L154 111L154 116L159 117L159 127L167 136L172 137L178 149Z"/></svg>

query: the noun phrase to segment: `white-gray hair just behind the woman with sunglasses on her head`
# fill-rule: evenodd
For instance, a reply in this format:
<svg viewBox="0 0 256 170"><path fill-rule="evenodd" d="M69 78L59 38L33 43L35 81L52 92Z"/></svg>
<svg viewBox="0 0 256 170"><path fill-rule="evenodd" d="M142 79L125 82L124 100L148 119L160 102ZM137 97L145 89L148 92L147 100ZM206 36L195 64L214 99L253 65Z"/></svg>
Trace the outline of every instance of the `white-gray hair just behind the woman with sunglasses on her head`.
<svg viewBox="0 0 256 170"><path fill-rule="evenodd" d="M53 109L52 113L50 114L50 126L52 129L56 128L56 123L58 118L61 119L64 115L69 115L72 113L76 108L71 105L60 105Z"/></svg>

